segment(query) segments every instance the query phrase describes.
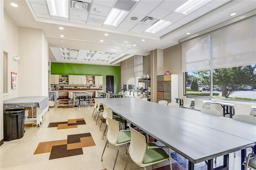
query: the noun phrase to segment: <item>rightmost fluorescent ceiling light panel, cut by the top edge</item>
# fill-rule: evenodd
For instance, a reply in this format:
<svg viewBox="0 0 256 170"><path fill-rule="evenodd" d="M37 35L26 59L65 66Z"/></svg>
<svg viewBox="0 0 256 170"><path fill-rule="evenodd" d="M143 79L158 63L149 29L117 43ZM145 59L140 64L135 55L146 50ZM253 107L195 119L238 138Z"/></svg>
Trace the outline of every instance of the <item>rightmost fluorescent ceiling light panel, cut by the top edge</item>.
<svg viewBox="0 0 256 170"><path fill-rule="evenodd" d="M182 6L174 10L174 12L188 15L211 1L212 0L188 0L186 3L182 4Z"/></svg>

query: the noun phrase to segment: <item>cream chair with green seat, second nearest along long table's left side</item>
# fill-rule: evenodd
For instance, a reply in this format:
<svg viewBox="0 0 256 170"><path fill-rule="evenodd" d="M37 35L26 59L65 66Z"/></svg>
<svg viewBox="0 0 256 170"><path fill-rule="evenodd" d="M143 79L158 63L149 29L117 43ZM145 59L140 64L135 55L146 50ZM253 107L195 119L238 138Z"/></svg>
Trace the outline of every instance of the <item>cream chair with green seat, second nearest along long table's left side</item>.
<svg viewBox="0 0 256 170"><path fill-rule="evenodd" d="M103 161L102 157L108 142L114 146L117 146L118 148L116 153L116 160L117 160L119 149L120 149L119 146L125 144L125 148L126 148L126 144L129 143L131 140L130 130L119 130L119 123L114 121L108 116L107 116L107 121L108 121L107 142L102 152L101 161ZM127 149L126 149L126 153L127 153ZM116 160L114 163L113 170L115 169L115 166L116 166Z"/></svg>

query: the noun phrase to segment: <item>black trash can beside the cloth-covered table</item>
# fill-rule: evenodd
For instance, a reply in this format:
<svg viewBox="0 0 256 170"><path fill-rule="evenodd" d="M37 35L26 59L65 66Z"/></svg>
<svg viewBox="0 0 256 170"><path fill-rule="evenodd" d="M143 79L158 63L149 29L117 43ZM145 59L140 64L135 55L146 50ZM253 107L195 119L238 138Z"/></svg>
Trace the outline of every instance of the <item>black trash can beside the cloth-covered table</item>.
<svg viewBox="0 0 256 170"><path fill-rule="evenodd" d="M26 109L4 110L4 141L24 136L24 115Z"/></svg>

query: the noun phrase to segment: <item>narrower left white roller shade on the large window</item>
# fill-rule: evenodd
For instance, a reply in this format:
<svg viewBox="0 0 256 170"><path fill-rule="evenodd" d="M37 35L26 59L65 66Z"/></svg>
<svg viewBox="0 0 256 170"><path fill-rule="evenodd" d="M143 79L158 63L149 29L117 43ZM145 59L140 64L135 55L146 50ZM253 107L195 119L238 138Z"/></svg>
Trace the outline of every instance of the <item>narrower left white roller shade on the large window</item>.
<svg viewBox="0 0 256 170"><path fill-rule="evenodd" d="M209 34L203 34L181 43L182 72L208 70Z"/></svg>

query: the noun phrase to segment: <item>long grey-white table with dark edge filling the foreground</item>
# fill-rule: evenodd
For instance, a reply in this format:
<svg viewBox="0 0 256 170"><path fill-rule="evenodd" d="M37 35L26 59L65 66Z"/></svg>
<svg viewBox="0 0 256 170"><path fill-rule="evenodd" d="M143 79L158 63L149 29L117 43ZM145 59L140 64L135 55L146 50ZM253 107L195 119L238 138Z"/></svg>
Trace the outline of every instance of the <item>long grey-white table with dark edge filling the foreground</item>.
<svg viewBox="0 0 256 170"><path fill-rule="evenodd" d="M134 98L98 100L188 159L189 170L203 161L208 162L208 170L228 170L229 153L241 150L243 162L246 148L256 144L256 126L252 124ZM224 164L213 168L213 158L218 156L224 156Z"/></svg>

